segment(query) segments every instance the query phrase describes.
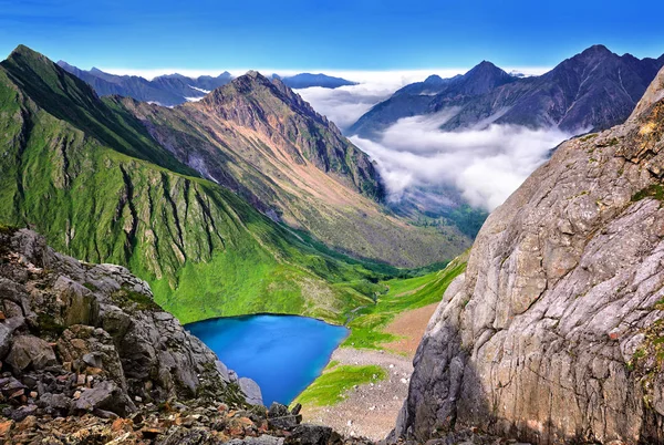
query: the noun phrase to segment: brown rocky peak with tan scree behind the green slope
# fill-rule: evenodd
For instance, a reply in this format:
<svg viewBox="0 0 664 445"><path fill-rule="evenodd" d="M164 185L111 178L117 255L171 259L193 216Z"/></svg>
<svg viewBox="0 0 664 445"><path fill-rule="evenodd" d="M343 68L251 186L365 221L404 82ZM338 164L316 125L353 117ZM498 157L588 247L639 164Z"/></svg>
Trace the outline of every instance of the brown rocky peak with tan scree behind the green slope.
<svg viewBox="0 0 664 445"><path fill-rule="evenodd" d="M417 227L386 211L369 156L279 80L249 72L175 108L115 100L201 176L338 250L421 267L469 245L452 224Z"/></svg>

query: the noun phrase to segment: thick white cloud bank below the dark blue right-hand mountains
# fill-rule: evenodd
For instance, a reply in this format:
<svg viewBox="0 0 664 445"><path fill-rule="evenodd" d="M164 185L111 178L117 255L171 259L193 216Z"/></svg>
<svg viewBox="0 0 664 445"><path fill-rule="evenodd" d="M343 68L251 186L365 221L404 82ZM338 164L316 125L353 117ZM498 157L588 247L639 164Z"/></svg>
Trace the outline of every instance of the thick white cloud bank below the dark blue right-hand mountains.
<svg viewBox="0 0 664 445"><path fill-rule="evenodd" d="M452 186L470 205L492 210L548 158L551 148L572 136L558 128L496 124L440 131L454 112L402 118L376 142L351 137L377 162L392 199L415 188Z"/></svg>

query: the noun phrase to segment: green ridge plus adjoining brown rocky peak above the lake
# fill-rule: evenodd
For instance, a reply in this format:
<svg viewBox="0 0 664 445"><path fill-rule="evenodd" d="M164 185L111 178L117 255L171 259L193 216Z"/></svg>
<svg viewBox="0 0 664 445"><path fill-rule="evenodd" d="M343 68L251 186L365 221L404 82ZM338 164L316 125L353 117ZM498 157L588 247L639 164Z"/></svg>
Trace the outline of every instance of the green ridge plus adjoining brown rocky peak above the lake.
<svg viewBox="0 0 664 445"><path fill-rule="evenodd" d="M100 99L19 46L0 63L0 144L1 222L129 267L184 322L260 311L340 321L371 301L372 280L402 272L339 250L413 267L469 242L388 215L366 155L255 72L167 108Z"/></svg>

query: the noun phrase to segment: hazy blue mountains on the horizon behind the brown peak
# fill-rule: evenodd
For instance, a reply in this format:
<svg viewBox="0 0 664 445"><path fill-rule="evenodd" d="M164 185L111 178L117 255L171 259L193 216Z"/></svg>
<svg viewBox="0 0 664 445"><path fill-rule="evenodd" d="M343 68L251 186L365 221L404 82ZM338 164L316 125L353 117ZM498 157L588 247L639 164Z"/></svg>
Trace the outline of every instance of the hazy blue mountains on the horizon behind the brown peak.
<svg viewBox="0 0 664 445"><path fill-rule="evenodd" d="M116 94L164 106L175 106L200 100L210 91L226 85L232 80L232 75L228 71L216 77L209 75L188 77L176 73L159 75L148 81L136 75L110 74L96 68L85 71L64 61L58 62L58 65L87 82L100 96ZM279 77L277 74L272 74L272 76L280 79L291 89L307 89L310 86L335 89L343 85L355 85L355 82L325 74L301 73L288 77Z"/></svg>

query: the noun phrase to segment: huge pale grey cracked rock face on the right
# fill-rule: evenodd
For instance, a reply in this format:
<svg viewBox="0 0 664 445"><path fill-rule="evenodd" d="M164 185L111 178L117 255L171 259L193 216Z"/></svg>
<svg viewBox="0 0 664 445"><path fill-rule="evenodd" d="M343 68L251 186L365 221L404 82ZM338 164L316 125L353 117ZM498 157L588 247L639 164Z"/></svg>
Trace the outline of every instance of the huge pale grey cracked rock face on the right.
<svg viewBox="0 0 664 445"><path fill-rule="evenodd" d="M415 358L397 436L664 441L664 70L483 227Z"/></svg>

